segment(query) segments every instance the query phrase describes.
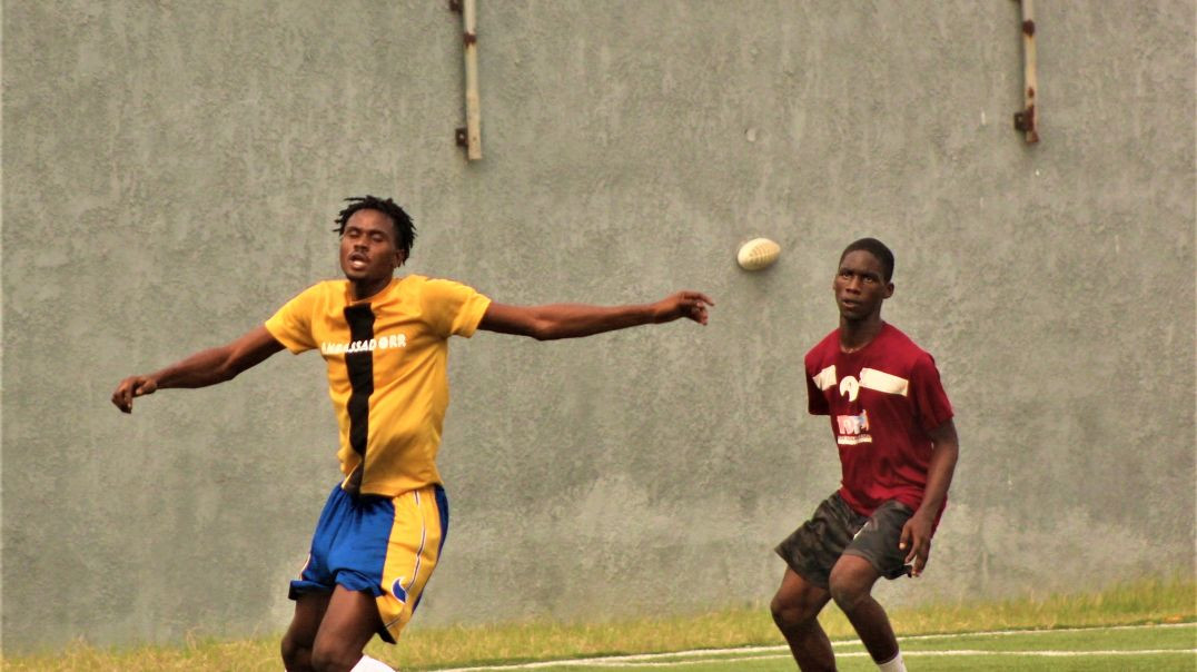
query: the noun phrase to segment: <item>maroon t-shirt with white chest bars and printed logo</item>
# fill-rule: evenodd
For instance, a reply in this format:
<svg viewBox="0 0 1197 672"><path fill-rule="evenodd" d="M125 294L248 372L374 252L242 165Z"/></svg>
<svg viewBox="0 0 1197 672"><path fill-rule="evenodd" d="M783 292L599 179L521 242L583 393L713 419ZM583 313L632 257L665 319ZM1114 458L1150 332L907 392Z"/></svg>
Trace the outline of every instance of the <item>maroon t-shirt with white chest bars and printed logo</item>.
<svg viewBox="0 0 1197 672"><path fill-rule="evenodd" d="M953 414L935 359L885 323L851 353L833 331L807 352L806 367L810 413L831 417L844 501L862 515L887 500L917 510L931 464L928 432Z"/></svg>

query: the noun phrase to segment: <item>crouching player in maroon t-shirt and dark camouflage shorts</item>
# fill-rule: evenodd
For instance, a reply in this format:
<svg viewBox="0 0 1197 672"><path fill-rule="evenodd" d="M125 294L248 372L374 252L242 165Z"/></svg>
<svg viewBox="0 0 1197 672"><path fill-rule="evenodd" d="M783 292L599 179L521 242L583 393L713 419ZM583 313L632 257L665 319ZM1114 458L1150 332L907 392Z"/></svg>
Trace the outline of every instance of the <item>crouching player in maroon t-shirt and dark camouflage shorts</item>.
<svg viewBox="0 0 1197 672"><path fill-rule="evenodd" d="M881 320L893 268L893 253L875 238L844 249L832 283L839 328L806 357L809 411L831 419L843 485L777 546L789 567L771 607L808 672L836 670L816 619L830 600L880 670L905 672L870 593L882 576L923 573L960 452L935 359Z"/></svg>

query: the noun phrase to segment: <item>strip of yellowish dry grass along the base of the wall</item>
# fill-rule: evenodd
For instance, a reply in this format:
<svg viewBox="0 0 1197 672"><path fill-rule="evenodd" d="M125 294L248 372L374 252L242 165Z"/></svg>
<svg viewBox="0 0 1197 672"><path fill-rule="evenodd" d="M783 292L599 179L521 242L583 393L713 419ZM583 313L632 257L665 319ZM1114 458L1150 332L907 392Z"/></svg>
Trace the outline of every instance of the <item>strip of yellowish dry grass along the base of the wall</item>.
<svg viewBox="0 0 1197 672"><path fill-rule="evenodd" d="M894 622L894 629L903 636L1189 623L1197 620L1197 582L1192 579L1142 580L1092 594L1031 595L1004 601L934 604L917 609L895 609L889 616ZM822 622L832 640L855 638L851 625L833 605L824 611ZM780 644L784 644L784 641L773 626L768 609L759 606L685 617L625 619L609 623L534 622L424 628L405 634L397 647L375 640L366 650L370 655L402 670L435 670L579 656ZM0 668L11 672L93 670L278 672L281 667L278 649L278 638L273 637L242 641L188 638L181 644L170 647L122 648L97 648L80 642L53 653L0 655ZM1192 656L1181 655L1181 658L1191 670ZM867 661L859 662L867 664ZM919 660L919 668L974 668L964 662L960 659L948 661L928 658ZM992 662L990 660L988 664ZM1068 667L1074 664L1081 665L1083 660L1053 659L1047 662L1061 665L1051 667L1052 670L1089 668ZM789 667L767 661L761 664L765 665L761 670L792 668L792 661L788 664ZM938 667L941 664L950 665ZM771 665L773 667L770 667ZM843 668L853 670L855 665L855 659L846 660ZM869 667L864 665L859 668ZM1044 667L1047 668L1050 667ZM689 670L697 672L694 668Z"/></svg>

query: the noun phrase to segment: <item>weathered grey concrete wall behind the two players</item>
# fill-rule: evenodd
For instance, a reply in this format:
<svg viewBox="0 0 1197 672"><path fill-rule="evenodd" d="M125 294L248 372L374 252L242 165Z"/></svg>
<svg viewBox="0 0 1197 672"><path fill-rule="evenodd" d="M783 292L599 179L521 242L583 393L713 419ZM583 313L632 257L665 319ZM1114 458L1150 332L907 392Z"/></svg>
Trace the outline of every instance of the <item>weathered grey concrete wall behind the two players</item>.
<svg viewBox="0 0 1197 672"><path fill-rule="evenodd" d="M452 346L452 529L415 626L764 601L838 483L802 355L895 250L962 458L916 603L1193 571L1195 2L2 5L7 650L285 628L335 430L316 355L109 404L335 277L340 199L506 303L694 287L711 325ZM773 268L739 271L765 235Z"/></svg>

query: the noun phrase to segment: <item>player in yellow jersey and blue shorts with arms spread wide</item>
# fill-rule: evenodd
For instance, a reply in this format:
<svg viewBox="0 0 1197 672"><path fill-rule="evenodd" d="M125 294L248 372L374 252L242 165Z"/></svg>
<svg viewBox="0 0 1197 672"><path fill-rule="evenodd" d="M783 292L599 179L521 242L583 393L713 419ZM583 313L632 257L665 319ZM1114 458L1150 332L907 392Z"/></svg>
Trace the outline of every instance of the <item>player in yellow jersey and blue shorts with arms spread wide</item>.
<svg viewBox="0 0 1197 672"><path fill-rule="evenodd" d="M548 340L680 317L705 325L713 305L693 291L640 305L505 305L450 280L396 278L415 240L411 218L390 199L347 200L334 229L345 280L318 283L232 343L127 377L113 393L129 413L136 396L224 382L282 349L324 357L344 478L291 582L296 612L282 660L292 672L390 670L361 652L375 632L395 642L448 532L436 456L450 335L481 328Z"/></svg>

